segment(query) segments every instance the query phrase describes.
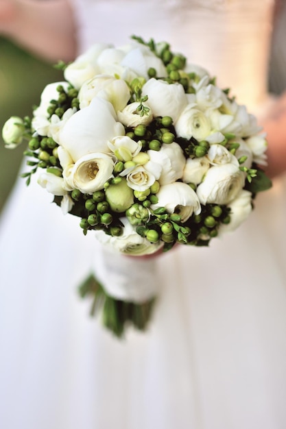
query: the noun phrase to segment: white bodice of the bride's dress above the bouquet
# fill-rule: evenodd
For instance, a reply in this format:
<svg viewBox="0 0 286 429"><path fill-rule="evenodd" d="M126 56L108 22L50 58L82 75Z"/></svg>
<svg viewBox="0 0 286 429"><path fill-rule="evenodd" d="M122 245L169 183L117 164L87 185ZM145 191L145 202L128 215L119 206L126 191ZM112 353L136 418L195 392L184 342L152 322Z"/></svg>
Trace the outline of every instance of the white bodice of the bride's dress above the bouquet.
<svg viewBox="0 0 286 429"><path fill-rule="evenodd" d="M266 101L274 0L73 1L80 51L93 42L118 46L132 34L165 40L250 110Z"/></svg>

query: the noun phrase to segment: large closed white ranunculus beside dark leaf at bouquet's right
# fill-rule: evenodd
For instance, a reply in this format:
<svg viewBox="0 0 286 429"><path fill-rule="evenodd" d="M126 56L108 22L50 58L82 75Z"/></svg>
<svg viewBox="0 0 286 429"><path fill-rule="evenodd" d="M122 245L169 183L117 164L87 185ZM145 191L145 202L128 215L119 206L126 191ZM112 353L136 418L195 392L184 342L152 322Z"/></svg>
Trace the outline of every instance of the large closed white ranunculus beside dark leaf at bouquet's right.
<svg viewBox="0 0 286 429"><path fill-rule="evenodd" d="M230 204L244 186L245 176L235 164L211 167L197 188L202 204Z"/></svg>

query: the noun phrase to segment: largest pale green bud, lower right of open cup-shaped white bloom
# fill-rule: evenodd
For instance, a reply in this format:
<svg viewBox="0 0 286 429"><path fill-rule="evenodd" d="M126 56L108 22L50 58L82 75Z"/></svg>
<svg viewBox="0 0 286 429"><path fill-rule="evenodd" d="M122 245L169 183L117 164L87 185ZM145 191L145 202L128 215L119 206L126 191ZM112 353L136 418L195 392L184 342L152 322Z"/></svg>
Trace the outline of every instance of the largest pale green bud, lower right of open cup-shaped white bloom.
<svg viewBox="0 0 286 429"><path fill-rule="evenodd" d="M120 177L121 182L110 184L106 189L106 201L114 212L125 212L134 203L133 190L128 186L126 179Z"/></svg>

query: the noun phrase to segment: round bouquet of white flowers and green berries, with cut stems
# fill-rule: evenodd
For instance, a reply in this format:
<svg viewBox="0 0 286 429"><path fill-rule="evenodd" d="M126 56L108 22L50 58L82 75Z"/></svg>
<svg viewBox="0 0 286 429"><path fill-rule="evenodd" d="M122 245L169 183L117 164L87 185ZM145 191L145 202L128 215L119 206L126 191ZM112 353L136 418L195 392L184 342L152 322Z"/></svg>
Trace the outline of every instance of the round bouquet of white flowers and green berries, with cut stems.
<svg viewBox="0 0 286 429"><path fill-rule="evenodd" d="M166 42L97 44L60 66L63 82L46 86L32 119L10 118L3 140L27 140L27 184L40 171L40 186L84 234L133 256L208 245L271 186L255 117ZM126 321L145 328L152 299L119 302L93 277L81 291L93 291L94 308L108 303L105 324L118 335Z"/></svg>

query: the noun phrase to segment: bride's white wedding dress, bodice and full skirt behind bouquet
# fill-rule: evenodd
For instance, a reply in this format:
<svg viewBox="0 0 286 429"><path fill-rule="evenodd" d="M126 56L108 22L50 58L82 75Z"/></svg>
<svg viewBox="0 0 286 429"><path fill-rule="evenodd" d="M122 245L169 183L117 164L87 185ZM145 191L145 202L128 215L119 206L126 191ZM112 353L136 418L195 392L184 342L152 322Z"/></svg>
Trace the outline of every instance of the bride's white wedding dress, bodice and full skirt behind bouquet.
<svg viewBox="0 0 286 429"><path fill-rule="evenodd" d="M252 112L267 109L271 0L78 0L74 8L81 50L132 34L167 40ZM1 220L1 428L286 427L283 178L209 248L128 260L130 275L141 269L158 284L158 300L147 332L122 341L89 317L91 303L76 290L100 269L98 243L49 201L21 179Z"/></svg>

